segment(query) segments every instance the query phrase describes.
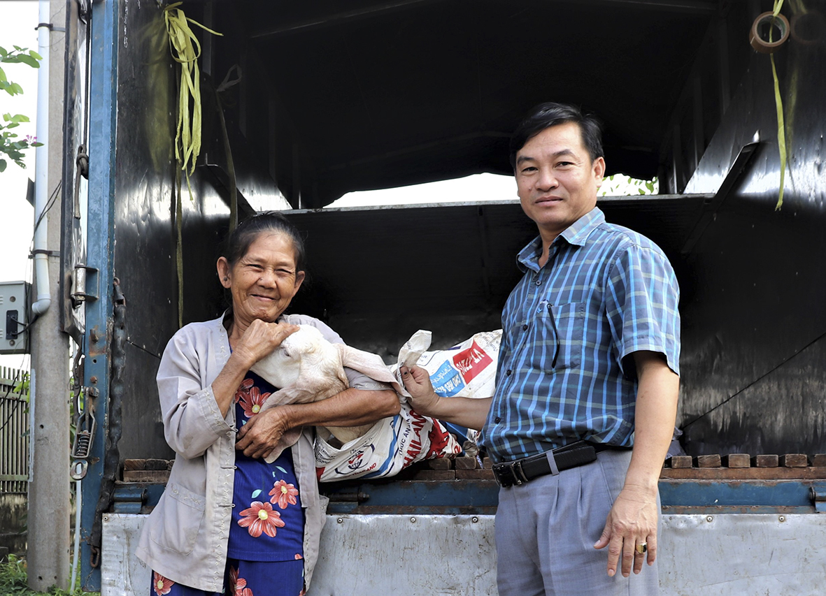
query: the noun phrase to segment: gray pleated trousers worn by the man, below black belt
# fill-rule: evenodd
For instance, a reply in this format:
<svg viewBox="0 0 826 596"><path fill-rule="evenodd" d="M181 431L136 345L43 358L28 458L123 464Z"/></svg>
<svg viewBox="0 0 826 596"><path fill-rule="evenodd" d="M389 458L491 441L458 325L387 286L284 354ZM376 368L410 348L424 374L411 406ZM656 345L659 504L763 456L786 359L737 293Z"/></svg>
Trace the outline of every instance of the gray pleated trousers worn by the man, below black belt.
<svg viewBox="0 0 826 596"><path fill-rule="evenodd" d="M609 577L608 546L594 548L625 479L630 451L499 490L496 584L500 596L654 596L657 563ZM657 497L657 505L659 498ZM662 526L662 520L660 523ZM658 542L658 541L657 541Z"/></svg>

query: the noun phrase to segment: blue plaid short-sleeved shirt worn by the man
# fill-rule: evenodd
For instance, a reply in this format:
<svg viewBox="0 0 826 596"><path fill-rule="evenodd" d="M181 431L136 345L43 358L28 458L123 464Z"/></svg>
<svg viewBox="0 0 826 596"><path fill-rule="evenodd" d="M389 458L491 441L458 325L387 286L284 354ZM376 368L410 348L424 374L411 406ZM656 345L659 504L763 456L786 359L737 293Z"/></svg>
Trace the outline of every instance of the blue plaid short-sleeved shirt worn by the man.
<svg viewBox="0 0 826 596"><path fill-rule="evenodd" d="M539 267L538 237L517 258L525 277L502 311L496 392L481 444L494 461L580 439L634 442L638 350L679 374L679 288L656 244L594 208Z"/></svg>

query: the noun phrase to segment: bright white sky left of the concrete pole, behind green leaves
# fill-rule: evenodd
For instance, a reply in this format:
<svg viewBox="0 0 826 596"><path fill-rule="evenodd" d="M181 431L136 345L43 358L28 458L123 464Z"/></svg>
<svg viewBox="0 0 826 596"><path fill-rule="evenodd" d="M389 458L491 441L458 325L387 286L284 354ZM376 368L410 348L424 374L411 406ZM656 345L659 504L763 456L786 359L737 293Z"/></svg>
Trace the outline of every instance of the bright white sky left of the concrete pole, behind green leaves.
<svg viewBox="0 0 826 596"><path fill-rule="evenodd" d="M12 50L19 45L37 51L37 2L35 0L0 1L0 46ZM2 64L8 80L20 84L23 95L12 97L0 92L0 115L25 114L31 123L18 126L18 138L35 135L37 106L37 71L26 64ZM2 117L2 116L0 116ZM31 281L28 258L34 229L34 210L26 202L28 178L35 177L35 152L26 152L28 168L21 169L7 159L6 171L0 173L0 281ZM28 368L20 355L0 356L0 366Z"/></svg>

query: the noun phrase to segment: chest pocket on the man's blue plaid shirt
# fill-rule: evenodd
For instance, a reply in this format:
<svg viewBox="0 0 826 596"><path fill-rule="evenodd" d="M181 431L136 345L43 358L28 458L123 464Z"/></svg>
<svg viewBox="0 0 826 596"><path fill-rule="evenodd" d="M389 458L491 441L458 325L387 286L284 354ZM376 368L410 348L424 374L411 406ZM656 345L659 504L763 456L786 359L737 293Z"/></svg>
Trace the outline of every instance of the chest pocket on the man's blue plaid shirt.
<svg viewBox="0 0 826 596"><path fill-rule="evenodd" d="M544 369L558 371L578 367L582 363L582 348L585 344L585 303L548 304L537 316L538 331L546 338L548 347Z"/></svg>

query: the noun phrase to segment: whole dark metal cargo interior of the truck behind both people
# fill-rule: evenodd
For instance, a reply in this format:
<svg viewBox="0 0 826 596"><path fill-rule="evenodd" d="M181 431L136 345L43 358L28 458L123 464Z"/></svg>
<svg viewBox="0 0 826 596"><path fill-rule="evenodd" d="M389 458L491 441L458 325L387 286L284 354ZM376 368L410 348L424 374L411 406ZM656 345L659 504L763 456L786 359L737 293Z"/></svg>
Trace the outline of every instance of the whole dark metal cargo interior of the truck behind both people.
<svg viewBox="0 0 826 596"><path fill-rule="evenodd" d="M416 329L444 348L498 328L520 275L515 253L534 225L515 193L496 203L467 196L433 206L422 196L421 206L323 208L351 191L510 174L520 117L539 102L572 102L605 124L607 173L659 178L657 196L600 206L660 244L680 280L686 451L823 451L823 375L806 371L822 370L826 356L826 291L822 276L803 274L826 253L823 186L801 170L796 181L808 176L819 200L787 183L784 208L773 210L771 67L748 45L771 2L234 0L183 9L223 34L195 28L204 147L193 200L183 193L184 323L225 304L214 277L230 202L219 109L241 215L288 209L306 232L311 283L292 309L389 360ZM131 43L118 58L116 274L127 296L141 295L131 301L127 353L136 387L151 384L177 329L173 306L158 308L177 302L173 270L159 278L154 268L174 254L169 218L155 215L174 194L172 167L157 159L169 163L178 84L163 22L160 9L130 12ZM814 68L823 51L787 45L776 54L781 80L800 64ZM240 81L214 92L237 78L235 66ZM807 78L796 88L790 127L809 152L801 157L822 144L823 85ZM121 439L121 456L167 449L151 394L125 400L138 432Z"/></svg>

